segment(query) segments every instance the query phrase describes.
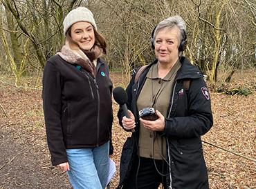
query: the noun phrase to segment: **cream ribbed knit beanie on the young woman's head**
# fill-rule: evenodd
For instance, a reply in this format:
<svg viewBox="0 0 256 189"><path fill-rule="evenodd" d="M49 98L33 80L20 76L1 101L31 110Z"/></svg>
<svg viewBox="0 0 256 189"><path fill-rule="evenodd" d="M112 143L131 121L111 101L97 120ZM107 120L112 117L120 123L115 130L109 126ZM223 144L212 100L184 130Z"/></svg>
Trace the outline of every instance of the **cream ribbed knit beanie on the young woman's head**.
<svg viewBox="0 0 256 189"><path fill-rule="evenodd" d="M68 14L66 15L63 21L64 35L66 35L66 31L68 30L68 28L77 21L88 21L93 25L95 30L97 30L97 26L95 20L93 19L93 13L91 12L91 10L85 7L78 7L74 10L71 10L71 12L68 12Z"/></svg>

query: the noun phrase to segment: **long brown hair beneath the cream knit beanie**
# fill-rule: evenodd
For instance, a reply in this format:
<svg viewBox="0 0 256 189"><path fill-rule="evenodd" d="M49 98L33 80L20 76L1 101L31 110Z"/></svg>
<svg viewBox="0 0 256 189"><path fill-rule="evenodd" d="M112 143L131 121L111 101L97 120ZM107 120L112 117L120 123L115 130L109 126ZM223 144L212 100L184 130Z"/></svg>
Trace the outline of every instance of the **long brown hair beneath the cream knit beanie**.
<svg viewBox="0 0 256 189"><path fill-rule="evenodd" d="M93 26L93 25L91 25L91 26ZM78 44L71 38L71 27L69 27L68 30L66 31L66 39L68 39L68 41L71 41L72 43L75 43L78 46ZM104 54L107 54L106 40L104 39L102 34L100 34L97 30L95 30L94 26L93 26L93 31L94 31L94 36L95 36L95 42L94 42L93 46L99 46L100 48L102 48L102 52Z"/></svg>

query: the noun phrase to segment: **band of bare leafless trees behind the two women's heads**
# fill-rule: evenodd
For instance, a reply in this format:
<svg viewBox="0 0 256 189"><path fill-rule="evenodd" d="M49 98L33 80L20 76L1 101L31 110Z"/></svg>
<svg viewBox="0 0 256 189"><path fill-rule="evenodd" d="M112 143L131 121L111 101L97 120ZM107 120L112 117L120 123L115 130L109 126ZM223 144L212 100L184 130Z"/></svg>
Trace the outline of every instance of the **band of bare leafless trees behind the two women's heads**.
<svg viewBox="0 0 256 189"><path fill-rule="evenodd" d="M26 65L44 68L46 59L63 45L62 21L75 6L92 10L98 30L108 42L104 58L111 69L127 75L131 68L154 59L152 30L159 21L175 14L181 15L188 25L185 56L208 74L210 82L218 81L220 69L228 70L226 78L221 79L229 81L235 70L255 65L253 0L2 0L1 3L8 19L3 29L6 40L12 41L8 46L17 65L21 63L19 53L24 53L21 49L29 39L26 52L30 59ZM21 52L15 50L21 44Z"/></svg>

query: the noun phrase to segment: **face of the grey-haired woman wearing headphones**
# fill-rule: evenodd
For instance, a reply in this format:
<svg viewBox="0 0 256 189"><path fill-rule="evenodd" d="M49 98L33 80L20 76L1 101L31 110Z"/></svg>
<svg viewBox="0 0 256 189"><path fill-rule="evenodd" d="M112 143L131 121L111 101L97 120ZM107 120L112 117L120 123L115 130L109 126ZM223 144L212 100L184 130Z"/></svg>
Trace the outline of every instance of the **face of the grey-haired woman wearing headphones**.
<svg viewBox="0 0 256 189"><path fill-rule="evenodd" d="M179 59L179 28L163 28L156 33L155 54L159 63L174 64Z"/></svg>

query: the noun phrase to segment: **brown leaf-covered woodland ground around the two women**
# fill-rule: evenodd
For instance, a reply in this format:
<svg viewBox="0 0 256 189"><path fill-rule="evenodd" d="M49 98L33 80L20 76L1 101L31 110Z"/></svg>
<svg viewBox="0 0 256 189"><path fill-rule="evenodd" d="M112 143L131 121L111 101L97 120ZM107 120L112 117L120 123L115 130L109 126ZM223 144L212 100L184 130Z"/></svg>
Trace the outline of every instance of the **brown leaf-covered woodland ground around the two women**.
<svg viewBox="0 0 256 189"><path fill-rule="evenodd" d="M248 78L242 77L243 75L248 75ZM111 78L115 87L124 81L118 73L111 73ZM1 78L3 79L10 78ZM235 83L255 85L255 70L246 74L237 73L231 80L231 85ZM210 94L214 126L202 139L255 159L256 92L247 97L215 92ZM8 115L6 117L0 108L0 188L71 188L67 176L51 166L41 91L17 90L0 82L0 104ZM118 186L122 145L131 135L118 125L117 112L118 104L113 103L114 154L111 158L116 162L117 172L111 181L111 188ZM207 143L203 143L203 152L210 188L255 188L255 162ZM15 158L12 159L13 157Z"/></svg>

